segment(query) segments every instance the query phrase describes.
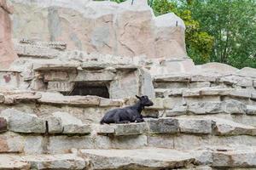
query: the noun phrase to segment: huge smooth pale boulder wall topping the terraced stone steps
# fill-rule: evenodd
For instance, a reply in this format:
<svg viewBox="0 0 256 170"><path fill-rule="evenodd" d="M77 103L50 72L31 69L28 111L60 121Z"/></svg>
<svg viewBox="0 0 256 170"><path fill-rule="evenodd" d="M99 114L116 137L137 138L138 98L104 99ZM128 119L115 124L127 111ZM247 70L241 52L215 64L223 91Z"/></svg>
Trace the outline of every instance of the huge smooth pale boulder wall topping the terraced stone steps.
<svg viewBox="0 0 256 170"><path fill-rule="evenodd" d="M89 54L187 57L183 20L175 14L155 17L146 0L12 1L17 39L67 42L67 49Z"/></svg>

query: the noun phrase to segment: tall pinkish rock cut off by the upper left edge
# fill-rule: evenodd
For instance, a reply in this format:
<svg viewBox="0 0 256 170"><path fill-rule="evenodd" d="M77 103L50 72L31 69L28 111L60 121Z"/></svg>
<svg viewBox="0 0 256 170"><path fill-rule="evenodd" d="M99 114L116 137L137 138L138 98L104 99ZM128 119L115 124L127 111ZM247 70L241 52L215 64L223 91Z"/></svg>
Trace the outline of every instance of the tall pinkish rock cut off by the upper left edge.
<svg viewBox="0 0 256 170"><path fill-rule="evenodd" d="M7 69L18 58L11 37L11 20L9 14L13 8L9 7L6 0L0 1L0 69Z"/></svg>

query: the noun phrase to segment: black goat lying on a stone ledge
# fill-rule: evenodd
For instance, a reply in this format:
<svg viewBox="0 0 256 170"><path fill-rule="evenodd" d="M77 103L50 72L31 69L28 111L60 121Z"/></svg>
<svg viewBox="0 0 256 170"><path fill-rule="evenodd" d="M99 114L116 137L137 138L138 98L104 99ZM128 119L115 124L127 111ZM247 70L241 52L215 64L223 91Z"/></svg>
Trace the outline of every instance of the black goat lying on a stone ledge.
<svg viewBox="0 0 256 170"><path fill-rule="evenodd" d="M135 105L127 106L121 109L114 109L108 111L103 116L101 124L103 123L128 123L128 122L144 122L143 115L141 114L145 106L154 105L153 102L148 99L148 96L137 96L139 101Z"/></svg>

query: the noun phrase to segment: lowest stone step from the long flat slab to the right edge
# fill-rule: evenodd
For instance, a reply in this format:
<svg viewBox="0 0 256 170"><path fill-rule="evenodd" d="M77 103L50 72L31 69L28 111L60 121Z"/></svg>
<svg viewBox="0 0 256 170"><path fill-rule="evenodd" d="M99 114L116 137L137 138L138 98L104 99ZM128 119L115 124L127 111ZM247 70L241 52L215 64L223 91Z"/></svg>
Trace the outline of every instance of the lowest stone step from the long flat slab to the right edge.
<svg viewBox="0 0 256 170"><path fill-rule="evenodd" d="M216 146L207 150L144 148L137 150L79 150L93 169L228 169L255 168L255 147Z"/></svg>

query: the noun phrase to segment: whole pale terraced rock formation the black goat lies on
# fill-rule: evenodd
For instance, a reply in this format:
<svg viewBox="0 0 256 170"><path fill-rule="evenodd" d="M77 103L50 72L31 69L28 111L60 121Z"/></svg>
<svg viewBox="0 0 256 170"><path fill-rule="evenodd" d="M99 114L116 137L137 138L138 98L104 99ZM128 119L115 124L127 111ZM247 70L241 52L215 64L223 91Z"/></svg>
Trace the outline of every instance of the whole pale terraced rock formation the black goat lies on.
<svg viewBox="0 0 256 170"><path fill-rule="evenodd" d="M42 40L16 40L19 59L9 71L0 71L0 169L256 168L255 69L219 63L194 65L184 59L182 53L173 52L183 47L182 20L177 28L168 22L177 20L173 14L148 20L152 13L144 1L135 1L134 6L131 1L120 5L84 0L76 5L73 0L13 1L14 22L21 22L17 17L24 17L22 11L37 11L28 16L34 22L27 23L20 35L42 36ZM68 27L72 17L76 29ZM45 20L51 20L47 24L51 33L40 30ZM157 21L151 25L150 20ZM63 27L55 31L58 21ZM158 28L148 29L152 26ZM144 47L148 54L156 53L158 47L165 57L137 55L141 54L138 51L129 57L105 54L112 46L109 50L102 43L104 29L125 44L124 54L131 52L127 47L132 51ZM142 29L146 29L142 37L132 36ZM17 34L19 29L15 30ZM100 44L102 48L91 49L102 54L73 49L67 30L86 35L96 31L93 41L84 36L88 39L81 41L81 47L88 50ZM158 38L148 37L150 31ZM177 37L172 37L173 32ZM50 36L67 43L44 41ZM153 39L158 46L148 44ZM142 44L133 46L132 41ZM154 105L145 108L143 115L156 118L141 123L99 123L106 111L136 102L135 94L150 96Z"/></svg>

